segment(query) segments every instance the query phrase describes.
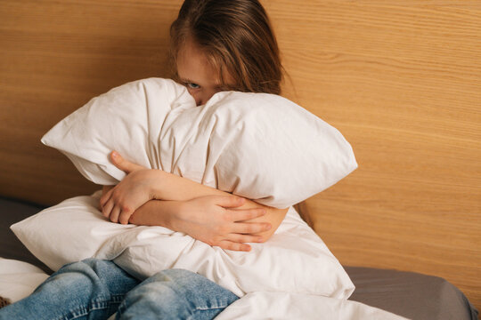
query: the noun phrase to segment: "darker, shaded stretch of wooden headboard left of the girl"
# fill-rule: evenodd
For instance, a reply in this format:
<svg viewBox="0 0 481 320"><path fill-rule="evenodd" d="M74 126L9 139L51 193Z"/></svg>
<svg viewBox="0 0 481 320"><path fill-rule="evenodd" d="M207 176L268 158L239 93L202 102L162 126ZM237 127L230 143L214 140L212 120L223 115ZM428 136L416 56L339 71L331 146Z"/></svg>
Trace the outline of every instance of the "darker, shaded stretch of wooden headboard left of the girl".
<svg viewBox="0 0 481 320"><path fill-rule="evenodd" d="M56 204L97 188L40 138L114 86L168 76L168 27L180 4L0 2L1 195Z"/></svg>

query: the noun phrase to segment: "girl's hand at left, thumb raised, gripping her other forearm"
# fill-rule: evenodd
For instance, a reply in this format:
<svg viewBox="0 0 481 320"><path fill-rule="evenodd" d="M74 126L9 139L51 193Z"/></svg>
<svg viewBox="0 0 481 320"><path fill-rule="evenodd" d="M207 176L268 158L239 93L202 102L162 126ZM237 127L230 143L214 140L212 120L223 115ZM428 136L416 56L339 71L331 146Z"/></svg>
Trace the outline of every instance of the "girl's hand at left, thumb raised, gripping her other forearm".
<svg viewBox="0 0 481 320"><path fill-rule="evenodd" d="M112 222L127 224L130 216L147 201L154 199L159 171L124 160L116 151L111 154L112 163L127 173L117 186L103 193L100 204L102 214Z"/></svg>

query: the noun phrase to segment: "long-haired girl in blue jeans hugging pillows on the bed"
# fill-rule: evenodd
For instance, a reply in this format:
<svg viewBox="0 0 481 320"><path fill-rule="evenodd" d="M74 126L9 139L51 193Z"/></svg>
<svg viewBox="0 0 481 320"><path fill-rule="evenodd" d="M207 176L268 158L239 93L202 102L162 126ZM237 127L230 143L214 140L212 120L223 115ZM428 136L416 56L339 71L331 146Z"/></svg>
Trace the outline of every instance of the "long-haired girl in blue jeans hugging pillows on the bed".
<svg viewBox="0 0 481 320"><path fill-rule="evenodd" d="M279 51L257 0L186 0L171 26L177 81L198 106L216 92L281 92ZM249 251L281 224L275 209L173 174L148 170L112 152L127 173L104 187L102 213L112 222L160 225L210 245ZM143 282L113 262L88 259L59 269L24 300L0 309L0 319L211 319L232 292L187 270L159 272Z"/></svg>

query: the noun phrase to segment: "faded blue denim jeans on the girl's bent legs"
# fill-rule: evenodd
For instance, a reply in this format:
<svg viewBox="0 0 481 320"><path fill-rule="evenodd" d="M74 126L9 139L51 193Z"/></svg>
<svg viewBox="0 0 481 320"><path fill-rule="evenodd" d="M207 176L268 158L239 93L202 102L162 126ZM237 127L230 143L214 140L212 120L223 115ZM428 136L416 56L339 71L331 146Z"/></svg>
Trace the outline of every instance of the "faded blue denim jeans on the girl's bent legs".
<svg viewBox="0 0 481 320"><path fill-rule="evenodd" d="M0 309L11 319L212 319L238 297L204 276L161 271L141 282L108 260L63 266L29 297Z"/></svg>

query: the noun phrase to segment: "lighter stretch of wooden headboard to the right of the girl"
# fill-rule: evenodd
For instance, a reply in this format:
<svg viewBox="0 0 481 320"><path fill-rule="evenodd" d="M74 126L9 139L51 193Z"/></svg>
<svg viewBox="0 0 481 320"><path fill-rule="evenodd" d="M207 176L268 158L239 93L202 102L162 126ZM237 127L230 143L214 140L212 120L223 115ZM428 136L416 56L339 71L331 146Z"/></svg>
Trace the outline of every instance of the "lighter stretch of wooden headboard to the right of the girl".
<svg viewBox="0 0 481 320"><path fill-rule="evenodd" d="M316 232L346 265L442 276L480 308L480 3L265 3L287 94L359 163L306 201Z"/></svg>

